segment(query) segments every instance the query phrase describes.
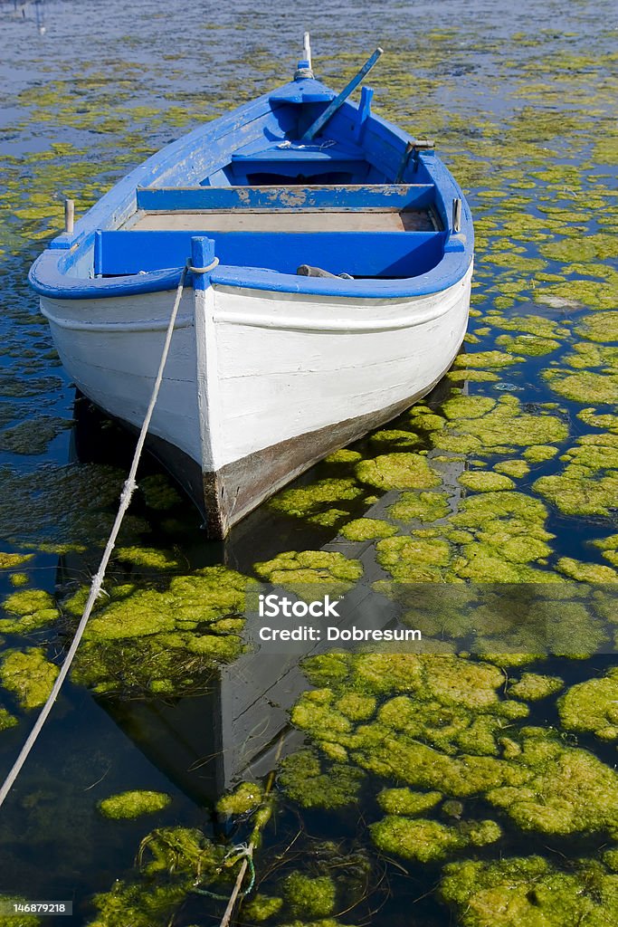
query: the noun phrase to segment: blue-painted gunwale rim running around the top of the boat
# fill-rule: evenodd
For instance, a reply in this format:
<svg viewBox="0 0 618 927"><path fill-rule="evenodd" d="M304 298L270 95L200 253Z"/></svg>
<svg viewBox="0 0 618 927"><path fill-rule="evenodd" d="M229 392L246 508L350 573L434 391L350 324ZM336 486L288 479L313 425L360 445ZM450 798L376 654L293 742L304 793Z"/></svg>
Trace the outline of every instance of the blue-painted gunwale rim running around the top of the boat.
<svg viewBox="0 0 618 927"><path fill-rule="evenodd" d="M332 98L334 92L320 82L312 79L291 82L165 146L101 197L75 223L72 235L57 235L32 265L29 274L32 288L44 297L55 299L129 297L174 289L180 280L182 268L179 266L126 276L87 278L85 274L92 273L93 269L96 232L114 231L124 226L138 210L139 197L145 196L145 189L153 191L153 197L158 197L163 195L164 188L169 191L174 184L177 188L186 185L188 164L193 178L198 177L200 172L204 176L228 163L233 151L245 145L244 133L248 135L252 127L272 118L273 114L276 116L290 103L314 102L316 99L327 102ZM334 115L328 132L335 138L348 138L355 133L355 141L356 135L360 135L362 146L371 152L372 161L379 163L380 169L390 176L397 173L406 145L411 140L397 126L373 113L368 115L366 107L350 102ZM231 148L233 140L236 141ZM251 141L250 138L246 140ZM190 179L191 183L195 181ZM434 206L446 235L444 256L431 271L397 280L339 280L220 264L210 275L211 283L308 296L381 299L424 296L454 286L473 260L472 216L459 185L442 161L429 151L419 154L416 165L410 162L402 183L435 185ZM222 191L229 187L203 186L201 189ZM160 194L155 192L158 190ZM462 209L460 233L455 235L451 228L450 210L452 200L457 197L462 201ZM414 232L401 234L417 235Z"/></svg>

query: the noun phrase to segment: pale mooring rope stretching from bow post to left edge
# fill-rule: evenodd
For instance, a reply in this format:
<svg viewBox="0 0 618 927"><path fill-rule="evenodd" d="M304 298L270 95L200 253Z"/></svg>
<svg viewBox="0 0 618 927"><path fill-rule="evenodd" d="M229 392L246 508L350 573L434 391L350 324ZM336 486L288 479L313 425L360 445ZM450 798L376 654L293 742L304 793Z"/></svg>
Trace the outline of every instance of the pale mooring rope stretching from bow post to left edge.
<svg viewBox="0 0 618 927"><path fill-rule="evenodd" d="M195 270L195 273L198 273L196 268L194 270ZM86 602L85 608L83 609L82 618L80 619L78 628L75 631L75 637L73 638L73 641L71 642L71 645L69 647L69 652L65 658L65 661L62 664L62 667L60 667L60 672L57 675L57 679L56 679L56 682L54 683L54 687L49 694L49 698L47 699L43 708L41 709L41 714L39 715L39 717L37 717L34 727L32 728L26 743L24 743L23 747L21 748L21 752L19 753L18 758L16 759L15 763L13 764L13 767L11 768L8 775L6 776L6 780L2 788L0 789L0 806L3 805L6 795L10 792L13 783L18 778L19 772L21 771L22 766L26 762L32 750L32 747L34 746L34 743L36 743L37 737L43 730L44 723L47 720L47 717L50 711L52 710L54 703L56 702L58 693L60 692L60 689L62 687L62 683L69 675L70 665L72 663L73 657L77 653L77 648L80 645L80 641L82 640L82 635L83 635L84 630L86 629L88 618L90 617L90 613L93 610L96 599L101 593L103 579L105 578L105 571L107 569L107 564L109 562L111 552L114 549L114 545L116 543L116 539L120 531L120 525L122 524L122 519L124 518L124 515L126 514L126 511L129 508L129 505L132 499L132 494L137 486L137 483L135 482L137 466L140 462L142 451L144 450L144 442L145 442L146 434L148 432L150 420L152 419L152 413L155 411L155 405L158 399L158 391L161 387L161 381L163 379L163 370L165 368L165 363L168 360L168 354L170 352L171 336L173 335L173 331L174 331L174 323L176 321L176 316L178 315L178 309L181 304L181 299L183 298L183 287L184 287L184 280L186 277L186 273L187 273L187 265L185 264L185 266L183 267L183 272L181 273L181 279L178 284L178 289L176 290L176 299L174 301L174 308L171 311L170 324L168 325L168 330L165 336L165 343L163 345L163 351L161 353L161 360L159 361L159 364L158 364L157 379L155 380L155 386L153 387L152 395L150 397L150 402L148 404L148 408L145 413L144 424L142 425L140 436L137 439L137 444L135 445L135 452L133 453L131 470L129 471L129 476L127 476L122 492L120 493L120 506L118 509L118 514L116 515L116 521L114 522L114 526L112 527L111 532L109 534L109 539L107 540L107 546L106 546L105 551L103 552L103 556L101 557L101 563L99 564L99 568L97 572L95 573L95 576L93 577L92 585L90 587L90 595L88 596L88 601Z"/></svg>

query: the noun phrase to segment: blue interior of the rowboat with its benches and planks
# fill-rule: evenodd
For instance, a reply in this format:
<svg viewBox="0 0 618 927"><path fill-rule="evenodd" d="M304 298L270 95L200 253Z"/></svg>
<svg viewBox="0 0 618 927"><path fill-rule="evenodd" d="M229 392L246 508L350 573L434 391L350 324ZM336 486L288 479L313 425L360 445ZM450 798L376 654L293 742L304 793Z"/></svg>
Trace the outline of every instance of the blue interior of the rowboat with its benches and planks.
<svg viewBox="0 0 618 927"><path fill-rule="evenodd" d="M306 140L333 99L322 83L301 76L162 149L72 234L54 239L51 251L64 252L56 254L56 279L90 281L98 291L95 285L122 278L135 291L150 276L148 288L165 288L162 272L183 266L195 235L215 243L214 283L284 289L283 277L308 264L349 275L355 292L355 280L413 281L465 251L449 272L460 278L472 260L473 230L465 200L461 228L453 227L453 200L462 195L448 170L431 147L415 146L372 114L368 88ZM31 282L43 292L36 265ZM296 276L287 286L305 285Z"/></svg>

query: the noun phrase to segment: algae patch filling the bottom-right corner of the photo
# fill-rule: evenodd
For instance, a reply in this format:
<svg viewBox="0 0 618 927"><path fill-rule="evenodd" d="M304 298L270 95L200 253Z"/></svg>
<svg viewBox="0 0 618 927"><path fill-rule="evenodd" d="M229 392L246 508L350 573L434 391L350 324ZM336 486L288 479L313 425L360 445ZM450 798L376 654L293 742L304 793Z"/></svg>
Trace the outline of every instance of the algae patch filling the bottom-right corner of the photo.
<svg viewBox="0 0 618 927"><path fill-rule="evenodd" d="M439 897L462 927L609 927L618 921L616 877L598 861L559 870L543 857L449 863Z"/></svg>

